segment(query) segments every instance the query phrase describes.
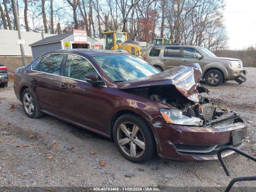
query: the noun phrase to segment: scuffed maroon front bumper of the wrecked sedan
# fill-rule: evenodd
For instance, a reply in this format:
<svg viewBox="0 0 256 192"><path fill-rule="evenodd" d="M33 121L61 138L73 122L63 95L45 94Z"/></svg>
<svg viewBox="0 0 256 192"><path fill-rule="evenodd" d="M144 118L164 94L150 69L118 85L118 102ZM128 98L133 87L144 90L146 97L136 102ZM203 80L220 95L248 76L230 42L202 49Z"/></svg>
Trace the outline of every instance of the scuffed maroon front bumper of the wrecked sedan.
<svg viewBox="0 0 256 192"><path fill-rule="evenodd" d="M232 144L232 132L241 130L242 138L247 132L247 125L237 118L231 124L229 119L206 127L152 122L158 136L158 155L172 160L206 161L218 159L217 151L223 146L242 148L242 141ZM223 152L222 157L232 153Z"/></svg>

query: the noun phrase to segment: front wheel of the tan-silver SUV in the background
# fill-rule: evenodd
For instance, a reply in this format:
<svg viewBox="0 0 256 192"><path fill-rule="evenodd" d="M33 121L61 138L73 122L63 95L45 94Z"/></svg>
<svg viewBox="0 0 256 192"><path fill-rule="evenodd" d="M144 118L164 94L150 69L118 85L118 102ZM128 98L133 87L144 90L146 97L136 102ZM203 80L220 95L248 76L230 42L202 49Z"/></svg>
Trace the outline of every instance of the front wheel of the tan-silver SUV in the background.
<svg viewBox="0 0 256 192"><path fill-rule="evenodd" d="M220 72L219 70L212 69L205 74L204 80L205 80L206 84L208 84L209 86L215 87L215 86L219 86L220 84L222 84L222 82L224 80L224 76L223 76L222 72Z"/></svg>

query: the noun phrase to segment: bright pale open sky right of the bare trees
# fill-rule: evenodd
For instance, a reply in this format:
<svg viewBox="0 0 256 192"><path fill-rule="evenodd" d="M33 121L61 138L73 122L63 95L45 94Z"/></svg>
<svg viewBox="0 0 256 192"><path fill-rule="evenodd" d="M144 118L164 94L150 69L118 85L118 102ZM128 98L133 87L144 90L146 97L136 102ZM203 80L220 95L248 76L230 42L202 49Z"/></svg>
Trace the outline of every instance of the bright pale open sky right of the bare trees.
<svg viewBox="0 0 256 192"><path fill-rule="evenodd" d="M230 49L256 46L256 0L226 0L224 18Z"/></svg>

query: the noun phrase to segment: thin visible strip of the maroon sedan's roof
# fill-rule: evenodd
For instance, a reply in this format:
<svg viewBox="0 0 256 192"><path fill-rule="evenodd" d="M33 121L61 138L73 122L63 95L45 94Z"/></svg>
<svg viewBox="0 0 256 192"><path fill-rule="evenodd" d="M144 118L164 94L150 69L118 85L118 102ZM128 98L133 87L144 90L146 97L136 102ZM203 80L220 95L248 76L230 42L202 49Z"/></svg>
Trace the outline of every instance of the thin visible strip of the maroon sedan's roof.
<svg viewBox="0 0 256 192"><path fill-rule="evenodd" d="M106 56L106 55L122 55L124 53L119 51L111 51L111 50L96 50L96 49L62 49L62 50L54 50L51 52L47 52L44 55L51 53L70 53L70 54L79 54L81 56Z"/></svg>

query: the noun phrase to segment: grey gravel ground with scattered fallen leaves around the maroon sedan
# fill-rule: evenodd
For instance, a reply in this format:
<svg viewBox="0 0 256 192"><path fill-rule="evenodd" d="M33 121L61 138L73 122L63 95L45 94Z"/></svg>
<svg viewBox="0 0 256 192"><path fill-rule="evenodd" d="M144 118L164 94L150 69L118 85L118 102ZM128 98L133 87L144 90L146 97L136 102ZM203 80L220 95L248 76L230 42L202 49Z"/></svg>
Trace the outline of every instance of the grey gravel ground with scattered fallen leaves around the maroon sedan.
<svg viewBox="0 0 256 192"><path fill-rule="evenodd" d="M244 150L256 154L256 68L247 68L244 84L207 87L221 108L238 112L248 123ZM0 89L0 186L227 186L236 176L255 175L256 163L233 154L224 160L178 162L159 157L134 164L113 142L90 131L44 115L31 119L14 94L13 83ZM100 166L99 161L106 163ZM236 186L256 186L240 182Z"/></svg>

